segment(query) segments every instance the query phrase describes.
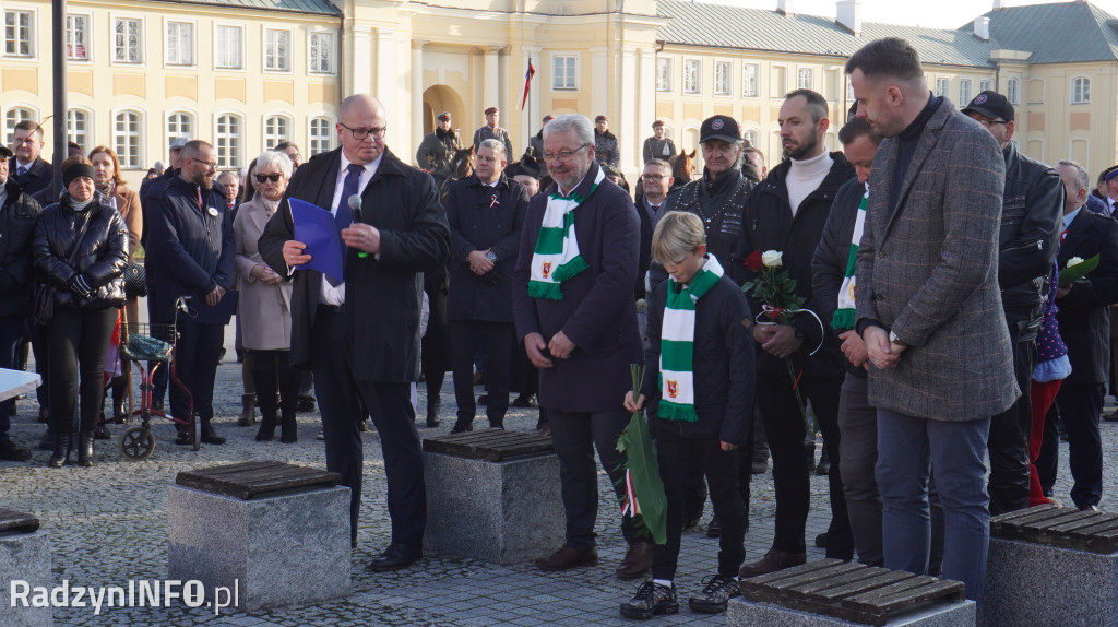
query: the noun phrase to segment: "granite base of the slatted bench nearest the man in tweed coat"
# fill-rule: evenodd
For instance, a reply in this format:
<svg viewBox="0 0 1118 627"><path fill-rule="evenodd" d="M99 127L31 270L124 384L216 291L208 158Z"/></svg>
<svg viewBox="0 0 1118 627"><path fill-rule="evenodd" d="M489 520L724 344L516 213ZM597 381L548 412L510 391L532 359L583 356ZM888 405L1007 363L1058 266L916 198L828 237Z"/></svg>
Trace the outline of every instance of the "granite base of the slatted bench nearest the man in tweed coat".
<svg viewBox="0 0 1118 627"><path fill-rule="evenodd" d="M740 597L730 599L727 624L731 627L756 627L758 625L765 627L865 627L862 623L851 623L830 616L746 601ZM955 601L937 602L899 614L885 625L888 627L970 627L974 624L975 602ZM1034 625L1045 624L1035 623Z"/></svg>

